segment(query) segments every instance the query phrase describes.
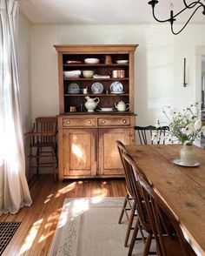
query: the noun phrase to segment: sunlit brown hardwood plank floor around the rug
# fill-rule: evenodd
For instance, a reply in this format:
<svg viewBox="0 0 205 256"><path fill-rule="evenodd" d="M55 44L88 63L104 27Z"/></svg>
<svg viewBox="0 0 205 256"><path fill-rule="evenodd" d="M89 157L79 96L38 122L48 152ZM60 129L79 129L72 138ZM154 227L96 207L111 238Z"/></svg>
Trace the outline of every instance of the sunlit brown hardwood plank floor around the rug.
<svg viewBox="0 0 205 256"><path fill-rule="evenodd" d="M39 175L30 183L30 193L31 207L0 217L0 221L22 222L3 256L48 255L65 198L124 197L126 192L124 179L66 180L54 184L51 175Z"/></svg>

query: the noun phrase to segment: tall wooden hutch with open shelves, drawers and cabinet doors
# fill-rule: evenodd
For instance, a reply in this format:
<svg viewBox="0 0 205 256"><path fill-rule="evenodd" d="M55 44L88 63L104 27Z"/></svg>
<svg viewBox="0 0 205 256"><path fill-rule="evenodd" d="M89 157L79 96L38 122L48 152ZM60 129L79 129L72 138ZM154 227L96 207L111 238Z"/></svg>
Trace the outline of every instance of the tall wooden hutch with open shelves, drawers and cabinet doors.
<svg viewBox="0 0 205 256"><path fill-rule="evenodd" d="M59 109L58 157L59 179L122 177L123 170L116 140L124 144L135 143L136 115L134 113L134 54L135 44L55 45L58 53ZM109 63L106 57L109 56ZM99 64L85 64L85 58L98 58ZM128 60L119 64L118 60ZM122 78L64 77L64 71L94 71L97 75L111 75L124 70ZM110 85L120 82L122 93L110 93ZM92 84L103 85L102 93L92 93ZM78 84L80 92L69 93L71 83ZM82 93L87 87L88 94ZM85 97L99 98L94 112L84 107ZM102 107L115 107L123 101L128 111L100 111ZM76 111L70 111L75 106Z"/></svg>

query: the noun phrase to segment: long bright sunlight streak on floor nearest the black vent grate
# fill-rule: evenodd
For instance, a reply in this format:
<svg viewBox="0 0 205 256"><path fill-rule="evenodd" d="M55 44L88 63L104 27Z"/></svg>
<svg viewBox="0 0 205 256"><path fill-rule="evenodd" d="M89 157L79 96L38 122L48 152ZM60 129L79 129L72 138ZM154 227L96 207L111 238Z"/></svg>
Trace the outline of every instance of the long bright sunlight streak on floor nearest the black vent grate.
<svg viewBox="0 0 205 256"><path fill-rule="evenodd" d="M33 226L30 229L29 235L27 236L27 238L25 239L25 241L23 243L23 246L20 250L19 255L22 255L26 251L30 250L31 246L33 245L34 240L36 239L37 232L38 232L42 222L43 222L43 219L39 219L33 224Z"/></svg>

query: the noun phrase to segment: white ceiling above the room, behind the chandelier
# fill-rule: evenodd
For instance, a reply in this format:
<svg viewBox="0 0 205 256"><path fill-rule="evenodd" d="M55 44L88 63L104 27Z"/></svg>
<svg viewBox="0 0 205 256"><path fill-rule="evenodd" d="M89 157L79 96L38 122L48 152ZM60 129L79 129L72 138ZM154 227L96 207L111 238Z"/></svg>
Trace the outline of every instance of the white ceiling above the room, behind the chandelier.
<svg viewBox="0 0 205 256"><path fill-rule="evenodd" d="M149 0L19 0L20 9L33 24L156 24ZM182 10L182 0L161 0L155 7L158 18L169 17L169 5L174 13ZM191 3L192 1L187 1ZM186 12L186 13L185 13ZM177 20L184 23L190 13L185 11ZM202 9L192 23L205 23Z"/></svg>

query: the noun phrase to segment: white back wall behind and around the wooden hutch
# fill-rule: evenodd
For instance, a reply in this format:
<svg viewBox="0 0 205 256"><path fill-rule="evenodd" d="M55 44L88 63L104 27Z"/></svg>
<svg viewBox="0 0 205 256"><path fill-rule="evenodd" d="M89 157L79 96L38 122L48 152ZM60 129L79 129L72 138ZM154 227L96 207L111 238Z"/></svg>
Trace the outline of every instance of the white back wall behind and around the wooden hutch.
<svg viewBox="0 0 205 256"><path fill-rule="evenodd" d="M36 25L31 28L32 118L58 113L57 54L53 44L139 44L136 49L138 125L164 118L162 105L183 107L195 96L195 46L205 44L205 25L188 24L178 36L169 26ZM183 87L183 58L188 86Z"/></svg>

